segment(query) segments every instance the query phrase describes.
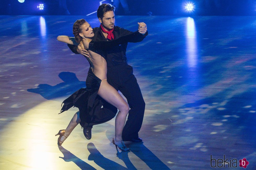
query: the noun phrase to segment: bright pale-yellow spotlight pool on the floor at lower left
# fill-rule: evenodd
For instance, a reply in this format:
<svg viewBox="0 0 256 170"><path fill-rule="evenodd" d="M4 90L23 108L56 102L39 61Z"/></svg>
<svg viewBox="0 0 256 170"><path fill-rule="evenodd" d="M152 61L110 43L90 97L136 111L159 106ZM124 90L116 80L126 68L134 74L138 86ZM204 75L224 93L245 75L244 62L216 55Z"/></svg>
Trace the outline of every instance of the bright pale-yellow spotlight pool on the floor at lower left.
<svg viewBox="0 0 256 170"><path fill-rule="evenodd" d="M2 163L1 168L15 169L18 165L17 167L21 169L59 169L59 165L63 165L63 160L58 159L59 156L63 157L63 155L57 146L58 137L54 136L54 134L60 128L65 129L76 109L71 109L73 111L58 115L59 110L56 109L59 109L58 106L60 104L61 102L47 100L17 117L16 121L8 124L0 139L1 158L7 161ZM47 109L43 109L45 107ZM38 118L38 115L41 115L40 118ZM108 130L112 130L112 135L114 135L113 124L114 119L104 125ZM99 130L94 128L94 130L98 131L98 133L93 134L93 138L89 141L83 136L81 127L77 126L65 141L63 147L65 149L72 148L72 153L79 153L76 156L84 162L90 163L96 169L100 169L95 163L88 161L90 153L86 148L87 144L93 142L97 149L108 152L111 150L113 153L115 153L115 146L112 146L106 137L106 130L103 130L102 127ZM118 160L114 159L116 162L119 162ZM124 163L120 161L120 164ZM78 167L75 168L72 162L65 162L64 166L66 169L79 169Z"/></svg>

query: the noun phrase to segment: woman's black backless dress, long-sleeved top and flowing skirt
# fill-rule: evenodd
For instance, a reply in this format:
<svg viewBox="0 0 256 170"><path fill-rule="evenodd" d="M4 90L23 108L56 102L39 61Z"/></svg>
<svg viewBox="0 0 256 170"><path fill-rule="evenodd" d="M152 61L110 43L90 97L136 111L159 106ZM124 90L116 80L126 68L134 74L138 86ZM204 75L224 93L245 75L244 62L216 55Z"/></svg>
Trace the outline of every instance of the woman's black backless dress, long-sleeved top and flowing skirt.
<svg viewBox="0 0 256 170"><path fill-rule="evenodd" d="M106 59L107 52L111 48L115 48L117 45L122 43L131 42L133 37L137 36L137 34L139 33L134 32L112 41L92 40L90 41L89 48L87 50L100 54ZM65 99L62 102L64 105L62 106L60 113L70 109L72 106L77 107L80 112L80 124L83 128L111 120L113 117L115 117L117 109L97 95L100 83L101 79L93 74L90 67L86 78L86 88L79 89L70 97Z"/></svg>

